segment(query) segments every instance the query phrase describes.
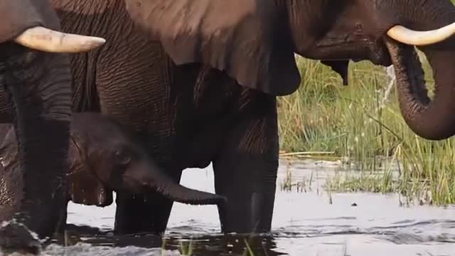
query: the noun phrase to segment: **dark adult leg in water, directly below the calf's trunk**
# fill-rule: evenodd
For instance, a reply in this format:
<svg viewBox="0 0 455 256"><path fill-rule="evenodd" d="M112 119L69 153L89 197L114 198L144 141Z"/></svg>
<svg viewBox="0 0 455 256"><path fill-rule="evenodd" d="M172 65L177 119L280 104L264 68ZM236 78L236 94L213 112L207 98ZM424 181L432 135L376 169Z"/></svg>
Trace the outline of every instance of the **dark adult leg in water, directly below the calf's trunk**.
<svg viewBox="0 0 455 256"><path fill-rule="evenodd" d="M168 175L173 181L180 183L181 171ZM163 234L173 206L173 201L159 193L132 195L117 192L116 203L114 230L119 234Z"/></svg>

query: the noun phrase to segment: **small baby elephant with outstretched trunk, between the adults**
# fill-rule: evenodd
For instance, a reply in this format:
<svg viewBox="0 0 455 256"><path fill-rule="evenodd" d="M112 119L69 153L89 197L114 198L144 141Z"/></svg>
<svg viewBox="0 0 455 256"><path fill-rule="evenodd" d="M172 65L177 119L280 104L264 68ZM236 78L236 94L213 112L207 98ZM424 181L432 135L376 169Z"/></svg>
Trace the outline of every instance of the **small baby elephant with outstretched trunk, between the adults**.
<svg viewBox="0 0 455 256"><path fill-rule="evenodd" d="M112 203L112 191L158 191L180 203L219 204L223 196L175 183L147 156L132 134L100 113L74 113L68 154L68 201L92 206ZM45 150L45 149L43 149ZM0 146L0 222L18 209L22 176L10 126ZM39 181L36 181L39 182Z"/></svg>

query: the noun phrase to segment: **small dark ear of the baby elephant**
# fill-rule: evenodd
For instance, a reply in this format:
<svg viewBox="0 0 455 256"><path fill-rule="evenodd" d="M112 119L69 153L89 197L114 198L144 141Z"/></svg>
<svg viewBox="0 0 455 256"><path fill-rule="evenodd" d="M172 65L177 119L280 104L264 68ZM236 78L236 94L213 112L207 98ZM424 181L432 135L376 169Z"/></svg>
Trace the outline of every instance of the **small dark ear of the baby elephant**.
<svg viewBox="0 0 455 256"><path fill-rule="evenodd" d="M83 152L75 144L70 144L70 174L68 174L68 194L73 203L86 206L109 206L114 201L112 191L91 171L90 164L82 157Z"/></svg>

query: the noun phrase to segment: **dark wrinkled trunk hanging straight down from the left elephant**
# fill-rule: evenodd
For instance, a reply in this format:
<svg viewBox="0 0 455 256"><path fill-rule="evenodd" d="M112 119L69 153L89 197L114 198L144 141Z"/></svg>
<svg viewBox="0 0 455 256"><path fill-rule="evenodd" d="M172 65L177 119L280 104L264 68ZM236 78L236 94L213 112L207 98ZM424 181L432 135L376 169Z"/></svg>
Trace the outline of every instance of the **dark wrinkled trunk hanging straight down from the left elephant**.
<svg viewBox="0 0 455 256"><path fill-rule="evenodd" d="M23 199L15 218L44 238L55 232L65 210L71 114L69 59L21 47L16 50L19 54L6 60L4 75L6 90L14 102L23 175Z"/></svg>

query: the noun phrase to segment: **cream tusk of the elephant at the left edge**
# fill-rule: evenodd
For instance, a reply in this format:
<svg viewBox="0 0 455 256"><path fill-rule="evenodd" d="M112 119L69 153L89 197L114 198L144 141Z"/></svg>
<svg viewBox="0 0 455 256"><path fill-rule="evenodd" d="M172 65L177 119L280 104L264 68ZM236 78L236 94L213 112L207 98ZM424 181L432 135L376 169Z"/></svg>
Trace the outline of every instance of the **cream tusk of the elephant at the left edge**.
<svg viewBox="0 0 455 256"><path fill-rule="evenodd" d="M28 28L17 36L14 42L49 53L80 53L102 46L106 40L93 36L62 33L37 26Z"/></svg>

